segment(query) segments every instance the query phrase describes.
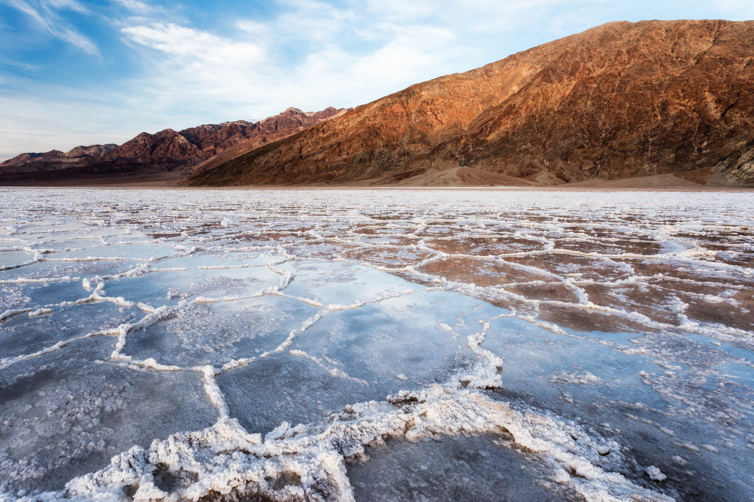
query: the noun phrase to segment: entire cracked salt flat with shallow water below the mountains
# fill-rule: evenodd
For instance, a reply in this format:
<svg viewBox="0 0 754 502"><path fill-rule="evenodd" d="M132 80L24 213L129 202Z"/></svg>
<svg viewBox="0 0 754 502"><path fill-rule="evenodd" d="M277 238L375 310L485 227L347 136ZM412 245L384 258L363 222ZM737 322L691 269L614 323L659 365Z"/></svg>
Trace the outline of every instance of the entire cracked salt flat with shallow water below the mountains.
<svg viewBox="0 0 754 502"><path fill-rule="evenodd" d="M4 501L754 500L749 193L0 211Z"/></svg>

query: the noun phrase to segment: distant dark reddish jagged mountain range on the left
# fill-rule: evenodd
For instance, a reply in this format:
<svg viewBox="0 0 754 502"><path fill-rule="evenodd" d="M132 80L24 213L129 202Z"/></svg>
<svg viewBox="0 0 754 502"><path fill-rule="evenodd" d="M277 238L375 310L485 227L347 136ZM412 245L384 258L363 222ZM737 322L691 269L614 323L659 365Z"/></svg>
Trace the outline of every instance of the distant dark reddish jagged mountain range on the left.
<svg viewBox="0 0 754 502"><path fill-rule="evenodd" d="M281 114L252 123L246 120L204 124L181 131L164 129L155 134L142 132L123 145L79 146L63 153L20 154L0 163L0 183L49 181L108 177L128 173L161 174L175 171L179 178L194 166L229 148L244 144L244 151L285 138L306 127L323 123L346 113L345 108L304 112L288 108ZM200 168L201 170L201 168Z"/></svg>

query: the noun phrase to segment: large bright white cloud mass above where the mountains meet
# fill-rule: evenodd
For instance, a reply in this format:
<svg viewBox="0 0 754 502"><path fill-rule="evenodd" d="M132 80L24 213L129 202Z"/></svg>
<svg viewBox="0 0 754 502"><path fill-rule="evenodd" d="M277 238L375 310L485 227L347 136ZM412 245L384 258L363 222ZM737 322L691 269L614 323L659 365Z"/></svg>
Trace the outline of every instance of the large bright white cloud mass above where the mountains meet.
<svg viewBox="0 0 754 502"><path fill-rule="evenodd" d="M309 0L285 5L288 11L265 23L235 20L226 36L176 23L121 29L148 61L146 75L130 85L154 93L164 107L225 108L223 120L266 117L288 106L360 105L442 75L449 59L470 51L447 27L394 23ZM286 59L290 47L308 50Z"/></svg>

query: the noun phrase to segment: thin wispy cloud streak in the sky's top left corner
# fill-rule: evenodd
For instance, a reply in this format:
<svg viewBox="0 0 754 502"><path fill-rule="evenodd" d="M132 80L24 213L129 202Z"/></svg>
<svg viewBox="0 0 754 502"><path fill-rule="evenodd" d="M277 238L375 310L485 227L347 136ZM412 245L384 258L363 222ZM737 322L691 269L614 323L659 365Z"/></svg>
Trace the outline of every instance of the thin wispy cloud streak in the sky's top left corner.
<svg viewBox="0 0 754 502"><path fill-rule="evenodd" d="M41 29L44 29L54 37L66 41L80 48L87 54L100 56L97 44L90 38L81 35L73 26L66 23L63 17L55 11L69 10L79 14L90 14L88 9L75 0L40 0L38 2L26 2L25 0L4 0L6 5L16 8L31 17Z"/></svg>

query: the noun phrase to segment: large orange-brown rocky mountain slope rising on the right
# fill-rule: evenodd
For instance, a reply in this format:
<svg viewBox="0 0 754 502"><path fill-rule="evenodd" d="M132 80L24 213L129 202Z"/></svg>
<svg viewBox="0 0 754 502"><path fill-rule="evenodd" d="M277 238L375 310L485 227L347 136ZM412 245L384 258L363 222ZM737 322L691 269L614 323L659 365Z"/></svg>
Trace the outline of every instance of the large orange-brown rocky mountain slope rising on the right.
<svg viewBox="0 0 754 502"><path fill-rule="evenodd" d="M743 184L752 162L754 21L641 21L412 85L184 184Z"/></svg>

